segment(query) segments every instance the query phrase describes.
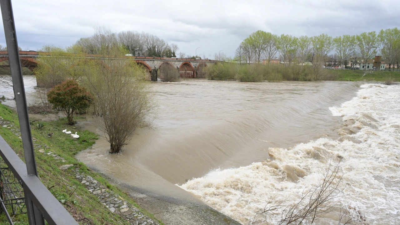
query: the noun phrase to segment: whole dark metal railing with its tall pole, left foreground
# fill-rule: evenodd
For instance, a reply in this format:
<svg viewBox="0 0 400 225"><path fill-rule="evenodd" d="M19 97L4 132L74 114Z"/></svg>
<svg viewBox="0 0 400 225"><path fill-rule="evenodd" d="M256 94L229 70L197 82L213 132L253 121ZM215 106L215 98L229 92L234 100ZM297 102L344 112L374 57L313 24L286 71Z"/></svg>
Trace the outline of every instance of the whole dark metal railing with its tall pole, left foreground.
<svg viewBox="0 0 400 225"><path fill-rule="evenodd" d="M21 189L18 187L16 182L7 183L7 181L11 180L7 180L4 177L2 183L7 183L7 185L6 187L3 186L3 190L9 196L7 199L4 196L2 201L0 201L1 207L3 212L6 213L8 222L11 225L14 223L12 222L12 219L7 211L6 204L10 205L10 207L13 209L14 205L12 203L16 203L15 206L17 208L22 205L26 207L26 213L28 214L28 221L30 225L44 225L44 219L46 219L46 222L50 225L78 225L74 218L38 178L11 0L0 0L0 7L26 162L25 164L0 136L0 156L7 165L7 169L12 172L13 176L24 190L23 199L22 196L14 197L14 193L22 193L18 191ZM4 171L6 171L6 169ZM23 210L24 208L21 207L20 209ZM14 212L15 211L13 209L12 214L14 214Z"/></svg>

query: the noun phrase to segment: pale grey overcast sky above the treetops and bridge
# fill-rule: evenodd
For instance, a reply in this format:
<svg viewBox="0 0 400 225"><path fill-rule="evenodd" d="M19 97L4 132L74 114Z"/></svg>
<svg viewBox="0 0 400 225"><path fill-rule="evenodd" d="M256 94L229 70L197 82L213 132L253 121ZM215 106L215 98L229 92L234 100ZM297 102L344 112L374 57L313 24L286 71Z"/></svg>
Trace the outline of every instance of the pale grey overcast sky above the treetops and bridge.
<svg viewBox="0 0 400 225"><path fill-rule="evenodd" d="M176 43L178 52L214 58L234 56L257 30L273 34L331 36L400 28L399 0L14 0L18 44L69 46L104 25L113 32L137 30ZM4 29L0 44L5 46Z"/></svg>

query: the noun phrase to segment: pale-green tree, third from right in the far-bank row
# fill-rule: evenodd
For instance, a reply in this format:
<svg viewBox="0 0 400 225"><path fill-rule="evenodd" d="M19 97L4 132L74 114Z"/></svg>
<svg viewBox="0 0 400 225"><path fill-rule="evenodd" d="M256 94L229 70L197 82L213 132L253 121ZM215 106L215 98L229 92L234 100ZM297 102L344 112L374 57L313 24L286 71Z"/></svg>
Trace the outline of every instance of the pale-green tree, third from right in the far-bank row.
<svg viewBox="0 0 400 225"><path fill-rule="evenodd" d="M336 54L342 62L342 66L345 66L344 62L350 58L352 52L356 48L356 36L337 36L336 38L333 38L333 42L336 48Z"/></svg>

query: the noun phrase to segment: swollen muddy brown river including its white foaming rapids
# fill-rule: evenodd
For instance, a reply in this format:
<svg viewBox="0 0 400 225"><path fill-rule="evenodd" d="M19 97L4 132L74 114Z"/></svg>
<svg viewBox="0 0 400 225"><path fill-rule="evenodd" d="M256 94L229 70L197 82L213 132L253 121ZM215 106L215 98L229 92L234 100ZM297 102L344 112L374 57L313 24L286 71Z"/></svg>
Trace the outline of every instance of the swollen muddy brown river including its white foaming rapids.
<svg viewBox="0 0 400 225"><path fill-rule="evenodd" d="M159 105L153 126L138 129L118 155L108 154L100 138L77 155L80 161L131 187L201 199L248 224L268 200L297 199L318 183L330 159L340 157L347 184L340 204L362 211L370 224L399 223L399 85L212 80L150 85ZM100 133L91 117L80 125Z"/></svg>

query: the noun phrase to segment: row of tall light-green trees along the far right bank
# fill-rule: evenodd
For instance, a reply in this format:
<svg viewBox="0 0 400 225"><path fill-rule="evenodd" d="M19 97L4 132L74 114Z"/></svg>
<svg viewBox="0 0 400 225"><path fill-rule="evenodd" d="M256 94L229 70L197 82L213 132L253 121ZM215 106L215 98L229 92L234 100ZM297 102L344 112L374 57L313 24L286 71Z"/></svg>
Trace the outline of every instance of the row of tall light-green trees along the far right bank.
<svg viewBox="0 0 400 225"><path fill-rule="evenodd" d="M241 63L270 63L276 56L281 62L303 64L311 62L323 66L328 55L340 60L341 66L354 66L351 63L361 59L364 62L382 55L382 60L390 67L400 64L400 30L398 28L364 32L359 35L342 35L333 38L327 34L319 36L295 37L288 34L280 36L258 30L244 39L236 49L234 61Z"/></svg>

